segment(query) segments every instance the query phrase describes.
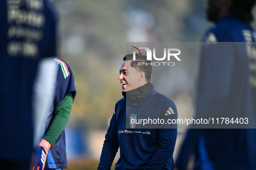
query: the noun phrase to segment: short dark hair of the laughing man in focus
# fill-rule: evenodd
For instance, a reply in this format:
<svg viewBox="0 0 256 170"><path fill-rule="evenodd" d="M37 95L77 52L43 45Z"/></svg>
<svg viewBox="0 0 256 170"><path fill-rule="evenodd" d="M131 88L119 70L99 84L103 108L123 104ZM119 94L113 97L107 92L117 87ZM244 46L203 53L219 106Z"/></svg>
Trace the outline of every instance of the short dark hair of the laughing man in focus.
<svg viewBox="0 0 256 170"><path fill-rule="evenodd" d="M126 54L123 57L123 61L132 60L131 67L135 68L139 72L145 72L145 78L147 82L150 82L151 74L152 74L152 63L147 60L146 56L141 56L139 54L135 54L135 59L133 60L133 54ZM143 62L145 64L140 64L139 62Z"/></svg>

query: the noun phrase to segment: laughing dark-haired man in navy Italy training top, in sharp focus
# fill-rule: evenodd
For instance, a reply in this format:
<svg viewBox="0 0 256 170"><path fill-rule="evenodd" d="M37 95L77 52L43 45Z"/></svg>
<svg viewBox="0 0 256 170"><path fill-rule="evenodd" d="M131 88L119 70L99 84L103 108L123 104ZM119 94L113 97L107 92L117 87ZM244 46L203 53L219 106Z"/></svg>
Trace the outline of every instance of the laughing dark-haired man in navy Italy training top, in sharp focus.
<svg viewBox="0 0 256 170"><path fill-rule="evenodd" d="M139 65L139 62L144 64ZM98 170L110 170L119 147L116 170L174 170L177 125L155 124L145 129L135 121L141 118L177 119L175 104L153 89L151 74L152 65L146 56L136 54L136 60L133 54L123 57L118 79L124 98L116 103Z"/></svg>

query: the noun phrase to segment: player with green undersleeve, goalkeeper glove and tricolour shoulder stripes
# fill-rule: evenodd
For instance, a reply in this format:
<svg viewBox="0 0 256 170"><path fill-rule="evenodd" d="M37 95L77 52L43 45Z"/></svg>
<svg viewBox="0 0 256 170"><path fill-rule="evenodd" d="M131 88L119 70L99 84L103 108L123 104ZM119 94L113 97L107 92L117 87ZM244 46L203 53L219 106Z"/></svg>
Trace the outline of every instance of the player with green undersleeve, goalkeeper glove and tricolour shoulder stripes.
<svg viewBox="0 0 256 170"><path fill-rule="evenodd" d="M73 73L63 60L58 65L55 96L51 108L43 117L42 139L33 152L30 170L62 170L67 168L65 126L68 123L75 98ZM43 154L42 154L43 153Z"/></svg>

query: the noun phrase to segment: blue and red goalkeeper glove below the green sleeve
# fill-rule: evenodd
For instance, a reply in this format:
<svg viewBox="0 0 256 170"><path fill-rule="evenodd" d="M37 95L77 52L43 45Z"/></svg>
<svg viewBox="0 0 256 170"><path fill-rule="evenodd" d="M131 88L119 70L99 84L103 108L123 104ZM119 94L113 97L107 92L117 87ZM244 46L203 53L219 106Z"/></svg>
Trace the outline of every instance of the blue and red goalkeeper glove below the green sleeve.
<svg viewBox="0 0 256 170"><path fill-rule="evenodd" d="M51 148L51 144L42 139L36 151L32 154L30 170L43 170L45 167L46 156Z"/></svg>

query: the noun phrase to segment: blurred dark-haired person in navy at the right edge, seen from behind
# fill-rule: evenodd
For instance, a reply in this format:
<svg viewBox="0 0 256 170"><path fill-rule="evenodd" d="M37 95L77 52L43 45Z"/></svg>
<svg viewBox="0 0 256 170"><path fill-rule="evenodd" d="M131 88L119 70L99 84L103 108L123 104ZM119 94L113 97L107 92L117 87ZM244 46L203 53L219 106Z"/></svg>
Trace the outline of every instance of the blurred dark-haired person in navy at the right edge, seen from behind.
<svg viewBox="0 0 256 170"><path fill-rule="evenodd" d="M256 33L250 25L255 1L208 0L207 19L215 25L203 39L195 113L198 118L233 117L235 121L245 116L255 126L256 69L252 66L256 54L252 51L256 51ZM188 129L175 164L178 170L187 169L191 154L195 170L256 169L256 129L217 126L222 125Z"/></svg>

